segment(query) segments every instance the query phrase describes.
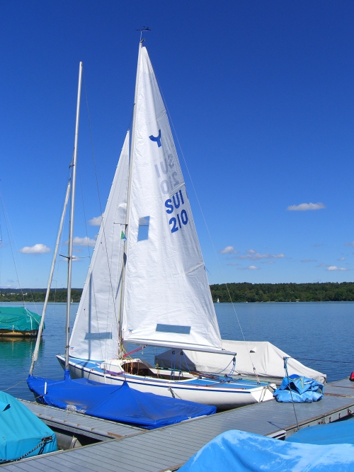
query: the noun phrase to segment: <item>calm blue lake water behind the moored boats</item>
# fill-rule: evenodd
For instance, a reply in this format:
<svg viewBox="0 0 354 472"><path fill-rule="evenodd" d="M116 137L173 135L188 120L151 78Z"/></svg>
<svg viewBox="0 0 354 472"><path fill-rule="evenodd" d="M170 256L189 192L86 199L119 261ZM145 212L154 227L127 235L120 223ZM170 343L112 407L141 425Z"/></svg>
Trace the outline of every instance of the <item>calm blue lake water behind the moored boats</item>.
<svg viewBox="0 0 354 472"><path fill-rule="evenodd" d="M72 322L77 305L72 305ZM28 303L27 308L42 313L41 303ZM348 377L354 371L353 302L236 303L234 308L247 341L269 341L295 358L353 361L353 364L302 361L309 367L327 373L328 381ZM223 339L242 339L234 308L229 303L215 303ZM64 352L64 320L64 303L49 304L35 375L58 380L62 378L63 371L55 354ZM0 337L1 390L8 389L6 391L13 396L33 400L25 378L34 347L34 340L8 341ZM146 348L142 357L154 362L154 355L161 350L164 349Z"/></svg>

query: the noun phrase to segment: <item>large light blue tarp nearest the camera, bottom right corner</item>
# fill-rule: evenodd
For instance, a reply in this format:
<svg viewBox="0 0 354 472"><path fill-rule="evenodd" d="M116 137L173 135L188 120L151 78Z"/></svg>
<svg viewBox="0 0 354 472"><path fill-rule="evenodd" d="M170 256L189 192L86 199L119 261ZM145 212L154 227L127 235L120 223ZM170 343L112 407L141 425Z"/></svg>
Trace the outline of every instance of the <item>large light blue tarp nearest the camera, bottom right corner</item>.
<svg viewBox="0 0 354 472"><path fill-rule="evenodd" d="M231 430L212 439L178 472L353 472L354 446L296 444Z"/></svg>

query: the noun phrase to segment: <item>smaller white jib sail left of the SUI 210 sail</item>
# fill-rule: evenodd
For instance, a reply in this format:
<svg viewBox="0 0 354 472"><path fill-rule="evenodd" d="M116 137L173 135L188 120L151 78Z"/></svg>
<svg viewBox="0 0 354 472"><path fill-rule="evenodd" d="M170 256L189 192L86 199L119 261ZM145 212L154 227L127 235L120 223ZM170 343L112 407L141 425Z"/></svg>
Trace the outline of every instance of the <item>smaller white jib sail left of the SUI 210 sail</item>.
<svg viewBox="0 0 354 472"><path fill-rule="evenodd" d="M108 196L76 314L70 355L97 361L116 358L123 246L127 213L129 131Z"/></svg>

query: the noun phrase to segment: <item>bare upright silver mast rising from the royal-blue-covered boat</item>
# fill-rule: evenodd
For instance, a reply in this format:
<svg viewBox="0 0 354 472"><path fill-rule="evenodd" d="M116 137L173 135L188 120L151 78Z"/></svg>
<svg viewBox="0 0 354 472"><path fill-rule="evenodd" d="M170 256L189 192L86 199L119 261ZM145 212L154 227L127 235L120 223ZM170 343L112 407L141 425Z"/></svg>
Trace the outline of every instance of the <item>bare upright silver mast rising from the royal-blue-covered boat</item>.
<svg viewBox="0 0 354 472"><path fill-rule="evenodd" d="M75 137L74 137L74 155L72 158L72 202L70 208L70 223L69 223L69 244L68 244L68 270L67 270L67 319L66 319L66 338L65 338L65 370L64 378L69 378L69 334L70 334L70 306L72 303L72 240L74 235L74 206L75 206L75 184L76 184L76 157L77 157L77 140L79 137L79 116L80 116L80 97L81 97L81 77L82 77L82 62L79 64L79 84L77 87L77 102L76 102L76 123L75 123Z"/></svg>

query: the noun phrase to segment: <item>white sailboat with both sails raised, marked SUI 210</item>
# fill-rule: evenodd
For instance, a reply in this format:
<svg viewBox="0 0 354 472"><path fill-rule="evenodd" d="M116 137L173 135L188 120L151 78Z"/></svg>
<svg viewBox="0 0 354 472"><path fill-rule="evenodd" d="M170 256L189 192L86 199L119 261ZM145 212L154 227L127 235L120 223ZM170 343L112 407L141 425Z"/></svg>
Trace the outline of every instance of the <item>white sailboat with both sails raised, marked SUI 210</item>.
<svg viewBox="0 0 354 472"><path fill-rule="evenodd" d="M127 343L140 347L127 353ZM146 346L172 349L171 368L131 356ZM273 398L274 384L224 376L226 365L220 375L183 371L183 349L236 354L222 347L169 119L142 40L132 133L103 213L67 367L72 378L127 382L220 410ZM64 366L64 356L57 358Z"/></svg>

